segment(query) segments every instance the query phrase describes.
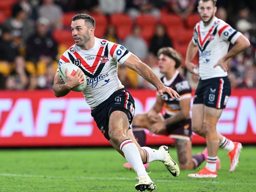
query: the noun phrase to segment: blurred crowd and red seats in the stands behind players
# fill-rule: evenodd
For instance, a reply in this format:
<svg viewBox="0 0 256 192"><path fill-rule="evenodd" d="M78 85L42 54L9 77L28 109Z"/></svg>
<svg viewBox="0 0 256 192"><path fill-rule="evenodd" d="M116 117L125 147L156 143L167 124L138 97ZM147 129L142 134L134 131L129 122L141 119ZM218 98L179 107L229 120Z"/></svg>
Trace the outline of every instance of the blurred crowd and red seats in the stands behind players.
<svg viewBox="0 0 256 192"><path fill-rule="evenodd" d="M217 7L216 16L251 42L228 61L232 88L255 88L256 0L217 0ZM96 37L123 44L159 77L158 49L174 47L184 63L200 20L197 0L0 0L0 89L52 89L59 57L74 44L70 24L77 13L92 15ZM195 89L198 77L179 70ZM118 75L127 88L154 89L122 65Z"/></svg>

